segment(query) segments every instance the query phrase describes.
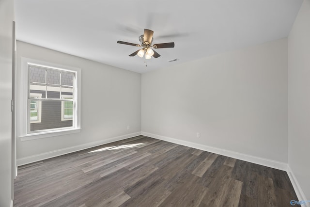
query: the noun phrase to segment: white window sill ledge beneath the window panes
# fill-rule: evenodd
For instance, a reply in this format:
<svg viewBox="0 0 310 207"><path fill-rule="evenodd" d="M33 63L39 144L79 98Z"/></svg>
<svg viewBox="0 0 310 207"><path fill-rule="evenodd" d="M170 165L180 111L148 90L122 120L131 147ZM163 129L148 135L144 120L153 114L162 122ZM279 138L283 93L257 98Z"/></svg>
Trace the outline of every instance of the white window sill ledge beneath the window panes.
<svg viewBox="0 0 310 207"><path fill-rule="evenodd" d="M48 137L55 137L55 136L62 136L66 134L73 134L79 133L81 128L71 128L71 129L62 129L62 130L55 130L55 131L47 131L47 132L39 132L35 134L27 134L25 136L18 137L20 141L29 141L29 140L36 140Z"/></svg>

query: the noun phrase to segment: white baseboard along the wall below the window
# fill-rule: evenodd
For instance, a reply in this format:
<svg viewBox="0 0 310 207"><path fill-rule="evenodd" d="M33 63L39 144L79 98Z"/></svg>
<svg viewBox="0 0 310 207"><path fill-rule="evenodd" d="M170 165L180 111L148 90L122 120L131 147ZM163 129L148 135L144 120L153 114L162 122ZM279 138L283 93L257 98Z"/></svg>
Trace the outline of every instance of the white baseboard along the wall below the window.
<svg viewBox="0 0 310 207"><path fill-rule="evenodd" d="M66 147L66 148L62 148L62 149L58 149L58 150L54 150L54 151L50 151L50 152L46 152L46 153L32 155L32 156L28 156L25 158L20 158L20 159L17 159L16 162L17 162L17 166L21 166L21 165L29 164L32 162L40 161L43 159L54 158L54 157L64 155L64 154L68 154L71 152L76 152L79 150L88 149L88 148L91 148L94 146L99 146L99 145L106 144L106 143L112 143L115 141L124 140L127 138L139 136L139 135L141 135L141 132L125 134L122 136L113 137L113 138L109 138L109 139L105 139L105 140L100 140L100 141L96 141L96 142L92 142L92 143L80 144L77 146Z"/></svg>

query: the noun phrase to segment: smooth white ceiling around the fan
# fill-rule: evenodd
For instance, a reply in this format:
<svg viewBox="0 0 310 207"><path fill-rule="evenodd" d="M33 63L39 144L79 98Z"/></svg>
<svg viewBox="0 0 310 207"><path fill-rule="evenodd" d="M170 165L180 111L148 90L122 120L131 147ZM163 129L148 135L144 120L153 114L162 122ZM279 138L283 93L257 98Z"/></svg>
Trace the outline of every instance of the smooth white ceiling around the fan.
<svg viewBox="0 0 310 207"><path fill-rule="evenodd" d="M287 37L302 0L15 0L16 39L144 73ZM144 28L161 57L128 57ZM179 61L169 63L171 59Z"/></svg>

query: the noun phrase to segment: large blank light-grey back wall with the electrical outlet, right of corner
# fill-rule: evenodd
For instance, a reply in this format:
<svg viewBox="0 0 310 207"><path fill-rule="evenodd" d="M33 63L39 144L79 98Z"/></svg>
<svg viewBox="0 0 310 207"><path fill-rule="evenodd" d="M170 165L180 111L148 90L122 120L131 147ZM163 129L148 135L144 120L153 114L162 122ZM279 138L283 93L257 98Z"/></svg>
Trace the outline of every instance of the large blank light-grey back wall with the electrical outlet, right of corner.
<svg viewBox="0 0 310 207"><path fill-rule="evenodd" d="M288 161L287 39L144 73L141 90L143 132Z"/></svg>

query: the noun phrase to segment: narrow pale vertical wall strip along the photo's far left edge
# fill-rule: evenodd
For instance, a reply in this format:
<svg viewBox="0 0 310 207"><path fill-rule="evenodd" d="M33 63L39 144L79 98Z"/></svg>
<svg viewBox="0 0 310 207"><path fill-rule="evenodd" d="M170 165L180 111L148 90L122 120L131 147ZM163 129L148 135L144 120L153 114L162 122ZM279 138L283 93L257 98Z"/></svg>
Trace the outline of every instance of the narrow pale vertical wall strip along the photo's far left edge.
<svg viewBox="0 0 310 207"><path fill-rule="evenodd" d="M11 205L13 0L0 1L0 207Z"/></svg>

